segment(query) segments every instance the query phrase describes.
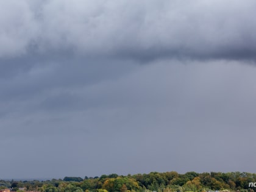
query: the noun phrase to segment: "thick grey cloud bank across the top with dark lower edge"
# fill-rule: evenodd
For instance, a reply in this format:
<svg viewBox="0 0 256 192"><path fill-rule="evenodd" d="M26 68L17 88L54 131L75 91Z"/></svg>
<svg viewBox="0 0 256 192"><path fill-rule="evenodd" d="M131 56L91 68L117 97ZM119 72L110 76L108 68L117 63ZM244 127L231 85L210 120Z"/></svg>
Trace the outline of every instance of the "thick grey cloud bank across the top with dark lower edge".
<svg viewBox="0 0 256 192"><path fill-rule="evenodd" d="M254 1L1 4L5 10L18 9L1 12L1 57L26 54L32 48L140 60L255 59Z"/></svg>

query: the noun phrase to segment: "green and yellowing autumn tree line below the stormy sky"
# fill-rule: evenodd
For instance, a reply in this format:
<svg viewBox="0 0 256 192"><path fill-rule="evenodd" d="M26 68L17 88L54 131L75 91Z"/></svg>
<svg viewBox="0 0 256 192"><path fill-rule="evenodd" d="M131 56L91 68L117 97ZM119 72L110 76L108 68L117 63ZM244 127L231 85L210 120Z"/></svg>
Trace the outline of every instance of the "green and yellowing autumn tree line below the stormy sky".
<svg viewBox="0 0 256 192"><path fill-rule="evenodd" d="M249 183L256 182L256 174L249 172L150 172L119 176L64 177L52 180L0 180L0 189L40 192L254 192Z"/></svg>

